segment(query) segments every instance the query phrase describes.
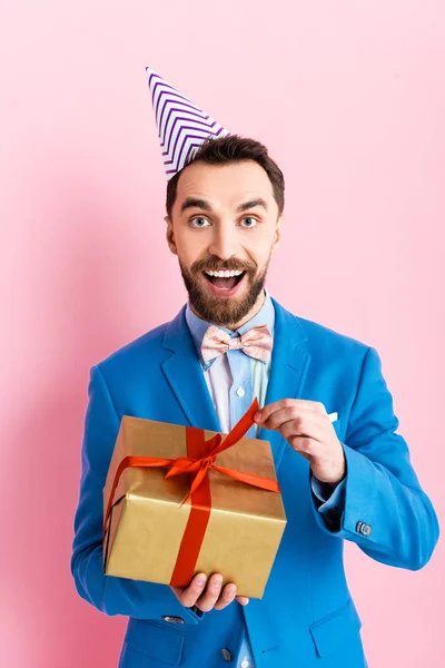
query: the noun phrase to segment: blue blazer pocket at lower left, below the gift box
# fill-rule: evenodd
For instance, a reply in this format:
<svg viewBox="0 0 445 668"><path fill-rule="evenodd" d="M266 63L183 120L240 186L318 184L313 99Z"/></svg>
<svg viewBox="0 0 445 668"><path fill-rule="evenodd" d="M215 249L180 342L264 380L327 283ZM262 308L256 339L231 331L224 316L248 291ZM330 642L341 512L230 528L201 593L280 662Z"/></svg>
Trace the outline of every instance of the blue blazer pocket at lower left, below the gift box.
<svg viewBox="0 0 445 668"><path fill-rule="evenodd" d="M179 665L184 640L184 631L146 619L130 619L125 637L129 647L169 666Z"/></svg>

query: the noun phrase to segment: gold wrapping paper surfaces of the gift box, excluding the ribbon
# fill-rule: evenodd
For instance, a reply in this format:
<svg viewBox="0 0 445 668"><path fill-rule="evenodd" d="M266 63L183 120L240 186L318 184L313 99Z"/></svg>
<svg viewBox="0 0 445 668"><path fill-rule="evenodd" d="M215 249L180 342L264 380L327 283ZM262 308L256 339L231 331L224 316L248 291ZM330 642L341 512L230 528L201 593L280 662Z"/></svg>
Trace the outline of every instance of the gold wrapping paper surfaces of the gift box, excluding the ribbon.
<svg viewBox="0 0 445 668"><path fill-rule="evenodd" d="M103 490L108 505L112 481L126 456L187 456L187 428L122 418ZM216 433L204 431L208 441ZM244 438L217 455L216 464L276 481L268 441ZM113 494L103 538L108 576L169 584L189 520L188 474L165 479L166 468L127 468ZM279 493L250 487L217 471L208 472L211 511L195 573L221 573L237 595L261 598L286 525Z"/></svg>

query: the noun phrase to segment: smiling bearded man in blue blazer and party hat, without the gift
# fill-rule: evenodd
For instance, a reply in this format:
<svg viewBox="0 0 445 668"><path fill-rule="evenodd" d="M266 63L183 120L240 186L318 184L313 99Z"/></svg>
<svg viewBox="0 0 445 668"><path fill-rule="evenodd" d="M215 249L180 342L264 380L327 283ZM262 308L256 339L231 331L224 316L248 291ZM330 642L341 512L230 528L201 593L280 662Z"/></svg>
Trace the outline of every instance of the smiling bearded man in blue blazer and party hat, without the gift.
<svg viewBox="0 0 445 668"><path fill-rule="evenodd" d="M91 370L77 589L107 615L130 617L120 668L364 667L343 541L415 570L438 537L378 354L270 297L281 171L261 144L230 136L148 76L169 178L167 242L189 301ZM263 409L247 435L270 441L288 520L264 598L222 589L219 573L197 573L186 589L105 576L102 487L121 416L228 432L254 396Z"/></svg>

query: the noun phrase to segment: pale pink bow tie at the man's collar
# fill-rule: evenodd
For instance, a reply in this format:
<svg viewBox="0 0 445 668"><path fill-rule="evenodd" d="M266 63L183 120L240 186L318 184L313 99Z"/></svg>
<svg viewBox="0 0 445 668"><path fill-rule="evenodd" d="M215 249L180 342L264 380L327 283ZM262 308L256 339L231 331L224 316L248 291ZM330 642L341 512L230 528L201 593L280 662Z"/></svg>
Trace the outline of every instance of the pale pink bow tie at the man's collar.
<svg viewBox="0 0 445 668"><path fill-rule="evenodd" d="M210 325L202 338L201 355L206 364L228 351L243 351L249 357L268 362L271 354L271 333L267 325L251 327L241 336L230 338L216 325Z"/></svg>

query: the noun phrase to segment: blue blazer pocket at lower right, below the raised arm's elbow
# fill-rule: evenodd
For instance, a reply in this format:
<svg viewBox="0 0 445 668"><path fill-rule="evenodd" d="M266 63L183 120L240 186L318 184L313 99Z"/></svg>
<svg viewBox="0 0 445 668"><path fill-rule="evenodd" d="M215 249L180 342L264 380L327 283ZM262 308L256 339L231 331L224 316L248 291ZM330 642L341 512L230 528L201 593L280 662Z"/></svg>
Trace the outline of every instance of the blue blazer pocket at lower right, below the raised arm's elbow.
<svg viewBox="0 0 445 668"><path fill-rule="evenodd" d="M319 657L340 649L348 641L354 641L362 628L353 599L342 607L316 621L309 627Z"/></svg>

